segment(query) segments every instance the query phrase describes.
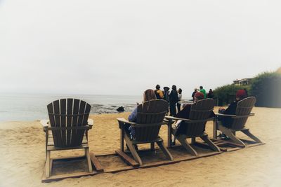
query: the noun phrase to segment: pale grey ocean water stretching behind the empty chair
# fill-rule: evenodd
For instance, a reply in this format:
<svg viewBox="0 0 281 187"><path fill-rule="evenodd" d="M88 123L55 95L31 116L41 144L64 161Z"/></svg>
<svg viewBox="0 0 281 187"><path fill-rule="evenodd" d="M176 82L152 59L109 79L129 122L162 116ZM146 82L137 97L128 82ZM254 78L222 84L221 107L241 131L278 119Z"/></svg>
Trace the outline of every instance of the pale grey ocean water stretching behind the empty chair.
<svg viewBox="0 0 281 187"><path fill-rule="evenodd" d="M0 122L48 119L47 104L63 98L82 99L91 104L91 113L118 113L123 106L131 112L142 95L33 95L0 94Z"/></svg>

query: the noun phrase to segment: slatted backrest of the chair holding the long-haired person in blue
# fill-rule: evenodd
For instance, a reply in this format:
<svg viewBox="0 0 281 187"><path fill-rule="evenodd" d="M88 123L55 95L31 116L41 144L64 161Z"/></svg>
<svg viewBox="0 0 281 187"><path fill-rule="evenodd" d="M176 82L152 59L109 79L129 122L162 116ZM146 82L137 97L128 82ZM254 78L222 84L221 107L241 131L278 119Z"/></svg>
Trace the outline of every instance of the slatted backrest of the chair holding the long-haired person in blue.
<svg viewBox="0 0 281 187"><path fill-rule="evenodd" d="M135 127L137 141L157 139L168 107L168 102L161 99L150 100L138 105L136 123L140 125Z"/></svg>

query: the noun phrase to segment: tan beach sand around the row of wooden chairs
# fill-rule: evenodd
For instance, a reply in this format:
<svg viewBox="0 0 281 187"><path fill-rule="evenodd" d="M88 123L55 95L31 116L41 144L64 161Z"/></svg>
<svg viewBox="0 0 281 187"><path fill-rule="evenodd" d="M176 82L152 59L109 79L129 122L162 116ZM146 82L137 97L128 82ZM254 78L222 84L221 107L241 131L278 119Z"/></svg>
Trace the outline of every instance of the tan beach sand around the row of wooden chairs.
<svg viewBox="0 0 281 187"><path fill-rule="evenodd" d="M247 127L264 145L171 165L51 183L41 183L45 134L39 121L0 123L0 186L280 186L281 109L254 108L253 112L256 116L249 118ZM128 115L90 116L94 120L89 131L90 151L113 153L119 148L116 118ZM207 123L207 133L211 137L211 122ZM166 144L165 125L160 136Z"/></svg>

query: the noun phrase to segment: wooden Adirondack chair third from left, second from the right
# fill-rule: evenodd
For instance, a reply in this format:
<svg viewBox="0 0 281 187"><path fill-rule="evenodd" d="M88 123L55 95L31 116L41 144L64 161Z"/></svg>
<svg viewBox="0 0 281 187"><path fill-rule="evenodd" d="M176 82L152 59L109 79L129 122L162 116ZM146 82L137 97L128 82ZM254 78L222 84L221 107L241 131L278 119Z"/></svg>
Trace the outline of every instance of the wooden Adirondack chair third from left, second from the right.
<svg viewBox="0 0 281 187"><path fill-rule="evenodd" d="M172 116L165 117L169 120L170 127L171 123L173 123L174 120L182 120L183 122L185 122L184 124L181 123L181 125L186 125L184 133L182 132L178 134L176 127L173 127L171 129L171 133L174 135L174 137L176 137L178 141L180 141L181 145L188 151L188 153L195 156L198 155L197 151L195 151L195 149L190 146L188 141L186 141L187 138L191 138L191 144L195 144L196 137L200 137L201 139L203 139L214 151L220 152L218 146L216 146L216 144L214 144L213 141L209 139L208 134L204 132L207 121L213 120L212 118L209 118L213 109L214 99L202 99L192 104L189 119L175 118ZM168 141L171 141L171 136Z"/></svg>

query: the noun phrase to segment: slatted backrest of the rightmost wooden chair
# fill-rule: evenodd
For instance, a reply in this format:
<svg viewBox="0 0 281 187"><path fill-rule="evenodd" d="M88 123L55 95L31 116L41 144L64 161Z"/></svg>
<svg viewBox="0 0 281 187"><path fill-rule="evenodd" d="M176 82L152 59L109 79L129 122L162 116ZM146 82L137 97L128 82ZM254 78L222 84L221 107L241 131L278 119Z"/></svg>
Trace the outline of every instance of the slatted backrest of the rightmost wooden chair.
<svg viewBox="0 0 281 187"><path fill-rule="evenodd" d="M244 128L245 123L247 122L248 116L251 113L251 109L253 109L254 104L256 104L256 97L247 97L242 99L237 103L236 113L237 118L233 118L233 122L231 123L231 129L233 130L241 130ZM239 117L245 116L245 117Z"/></svg>

